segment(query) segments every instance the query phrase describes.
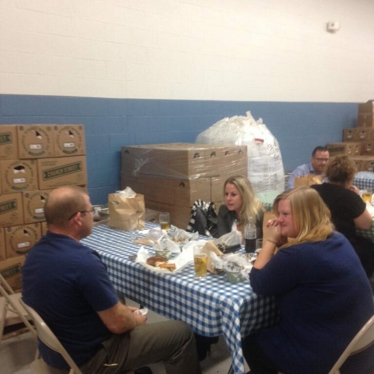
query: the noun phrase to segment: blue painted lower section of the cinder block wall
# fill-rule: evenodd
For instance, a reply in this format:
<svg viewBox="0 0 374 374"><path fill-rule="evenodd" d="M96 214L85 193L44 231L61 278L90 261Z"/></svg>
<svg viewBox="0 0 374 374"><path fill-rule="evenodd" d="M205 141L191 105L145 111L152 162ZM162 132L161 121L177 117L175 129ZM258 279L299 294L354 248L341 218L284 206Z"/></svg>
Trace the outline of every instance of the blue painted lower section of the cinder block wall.
<svg viewBox="0 0 374 374"><path fill-rule="evenodd" d="M194 143L218 120L250 111L278 139L285 172L308 162L316 145L342 141L355 127L357 103L112 99L0 95L0 124L81 123L93 204L120 189L124 145Z"/></svg>

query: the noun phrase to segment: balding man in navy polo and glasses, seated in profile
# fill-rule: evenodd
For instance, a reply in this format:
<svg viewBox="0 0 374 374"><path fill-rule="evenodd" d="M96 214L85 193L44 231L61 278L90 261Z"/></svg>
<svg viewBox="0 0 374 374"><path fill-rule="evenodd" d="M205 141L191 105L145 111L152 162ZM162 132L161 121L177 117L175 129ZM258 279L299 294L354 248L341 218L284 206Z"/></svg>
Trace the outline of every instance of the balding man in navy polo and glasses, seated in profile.
<svg viewBox="0 0 374 374"><path fill-rule="evenodd" d="M191 329L181 321L146 324L122 304L97 252L80 243L92 232L87 192L53 190L44 213L48 232L22 267L22 297L56 334L83 373L123 373L163 361L170 374L201 373ZM39 342L44 361L67 369L64 359Z"/></svg>

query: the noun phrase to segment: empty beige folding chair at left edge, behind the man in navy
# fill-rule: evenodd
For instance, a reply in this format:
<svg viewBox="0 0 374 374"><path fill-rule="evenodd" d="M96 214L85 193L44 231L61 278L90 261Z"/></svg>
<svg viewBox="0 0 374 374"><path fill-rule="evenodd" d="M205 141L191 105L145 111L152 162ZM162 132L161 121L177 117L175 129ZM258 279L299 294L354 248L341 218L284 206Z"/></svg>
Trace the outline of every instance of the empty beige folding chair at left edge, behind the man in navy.
<svg viewBox="0 0 374 374"><path fill-rule="evenodd" d="M28 320L31 319L31 317L19 303L21 294L19 292L15 293L1 274L0 294L2 295L0 297L0 341L28 331L31 331L31 333L36 336L37 333ZM5 327L18 325L22 322L26 327L20 327L19 329L4 335Z"/></svg>

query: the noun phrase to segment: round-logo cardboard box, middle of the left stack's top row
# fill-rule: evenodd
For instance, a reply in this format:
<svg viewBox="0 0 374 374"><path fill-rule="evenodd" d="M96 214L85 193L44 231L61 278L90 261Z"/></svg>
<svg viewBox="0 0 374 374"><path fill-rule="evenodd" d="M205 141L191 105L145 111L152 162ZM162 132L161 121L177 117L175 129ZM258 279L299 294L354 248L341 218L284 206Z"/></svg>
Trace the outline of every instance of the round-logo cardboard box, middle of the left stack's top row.
<svg viewBox="0 0 374 374"><path fill-rule="evenodd" d="M20 159L53 157L53 125L17 125Z"/></svg>

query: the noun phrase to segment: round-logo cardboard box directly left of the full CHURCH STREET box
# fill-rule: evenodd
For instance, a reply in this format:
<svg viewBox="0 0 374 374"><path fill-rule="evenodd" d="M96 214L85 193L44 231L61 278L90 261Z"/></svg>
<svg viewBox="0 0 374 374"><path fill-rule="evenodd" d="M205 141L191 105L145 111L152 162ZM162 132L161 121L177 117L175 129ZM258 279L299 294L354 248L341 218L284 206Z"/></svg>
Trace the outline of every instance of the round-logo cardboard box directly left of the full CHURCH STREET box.
<svg viewBox="0 0 374 374"><path fill-rule="evenodd" d="M3 194L38 189L36 160L0 161L0 170Z"/></svg>

